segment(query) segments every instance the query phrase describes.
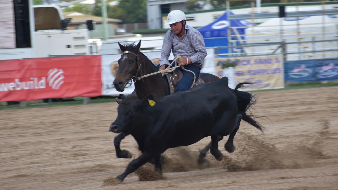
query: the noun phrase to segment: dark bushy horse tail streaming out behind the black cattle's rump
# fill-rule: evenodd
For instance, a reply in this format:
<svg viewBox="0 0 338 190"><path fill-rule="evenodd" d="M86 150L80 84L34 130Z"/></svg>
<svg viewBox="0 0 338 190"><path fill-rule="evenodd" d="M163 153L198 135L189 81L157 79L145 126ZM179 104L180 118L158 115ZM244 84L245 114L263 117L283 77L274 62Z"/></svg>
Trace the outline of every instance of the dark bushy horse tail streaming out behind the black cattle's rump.
<svg viewBox="0 0 338 190"><path fill-rule="evenodd" d="M249 111L249 115L246 114L246 111L248 111L252 105L257 103L257 97L255 95L251 95L248 92L238 91L239 88L244 87L244 85L246 84L253 84L253 83L252 82L241 82L235 88L235 94L237 97L238 113L242 115L242 119L244 121L246 121L250 125L258 128L259 130L263 132L264 127L255 120L255 118L261 118L262 116L252 115L250 111Z"/></svg>

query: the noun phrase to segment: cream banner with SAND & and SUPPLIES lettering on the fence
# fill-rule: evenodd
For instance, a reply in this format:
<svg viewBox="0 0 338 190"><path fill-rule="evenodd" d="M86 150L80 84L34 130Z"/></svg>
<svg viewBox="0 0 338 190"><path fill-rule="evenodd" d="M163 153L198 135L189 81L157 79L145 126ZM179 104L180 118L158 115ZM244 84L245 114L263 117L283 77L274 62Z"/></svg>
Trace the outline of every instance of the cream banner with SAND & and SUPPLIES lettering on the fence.
<svg viewBox="0 0 338 190"><path fill-rule="evenodd" d="M246 85L247 90L284 88L282 55L219 57L215 61L216 75L227 76L230 88L240 82L255 82Z"/></svg>

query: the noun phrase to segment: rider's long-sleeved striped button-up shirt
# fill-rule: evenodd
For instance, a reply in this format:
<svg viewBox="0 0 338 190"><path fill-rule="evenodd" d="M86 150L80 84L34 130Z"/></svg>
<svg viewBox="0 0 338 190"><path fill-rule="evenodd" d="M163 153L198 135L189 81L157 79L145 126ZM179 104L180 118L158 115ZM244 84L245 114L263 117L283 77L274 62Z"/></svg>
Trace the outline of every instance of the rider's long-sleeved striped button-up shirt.
<svg viewBox="0 0 338 190"><path fill-rule="evenodd" d="M203 58L207 56L202 34L188 25L185 25L185 32L181 40L171 29L168 30L163 39L160 65L170 65L168 59L171 50L174 56L190 58L192 63L202 64Z"/></svg>

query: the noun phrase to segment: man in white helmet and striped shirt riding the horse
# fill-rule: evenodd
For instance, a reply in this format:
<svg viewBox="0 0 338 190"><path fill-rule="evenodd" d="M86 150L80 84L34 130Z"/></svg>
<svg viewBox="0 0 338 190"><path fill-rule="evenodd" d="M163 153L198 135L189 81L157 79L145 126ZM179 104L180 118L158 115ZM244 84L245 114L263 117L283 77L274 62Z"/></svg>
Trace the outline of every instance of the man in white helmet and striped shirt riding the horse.
<svg viewBox="0 0 338 190"><path fill-rule="evenodd" d="M173 10L168 14L165 25L169 24L171 30L167 31L163 40L159 70L164 70L173 61L168 61L172 50L174 56L181 56L177 59L178 65L193 71L197 78L202 68L203 58L207 56L207 49L201 33L188 26L186 21L185 14L180 10ZM175 92L190 89L194 75L181 67L177 69L183 72L183 78L178 82ZM164 73L162 73L162 76L164 76Z"/></svg>

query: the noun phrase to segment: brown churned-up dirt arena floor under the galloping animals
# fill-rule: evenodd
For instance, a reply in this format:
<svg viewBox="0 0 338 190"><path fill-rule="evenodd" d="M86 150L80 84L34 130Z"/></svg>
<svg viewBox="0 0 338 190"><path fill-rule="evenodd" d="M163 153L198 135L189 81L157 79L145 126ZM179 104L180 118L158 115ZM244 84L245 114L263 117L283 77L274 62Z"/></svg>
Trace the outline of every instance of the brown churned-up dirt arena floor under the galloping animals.
<svg viewBox="0 0 338 190"><path fill-rule="evenodd" d="M334 190L338 189L338 87L260 92L254 114L266 131L242 122L236 151L196 164L210 138L165 152L164 179L145 167L121 174L130 159L117 159L108 132L117 103L0 111L1 190ZM128 136L121 148L138 156Z"/></svg>

